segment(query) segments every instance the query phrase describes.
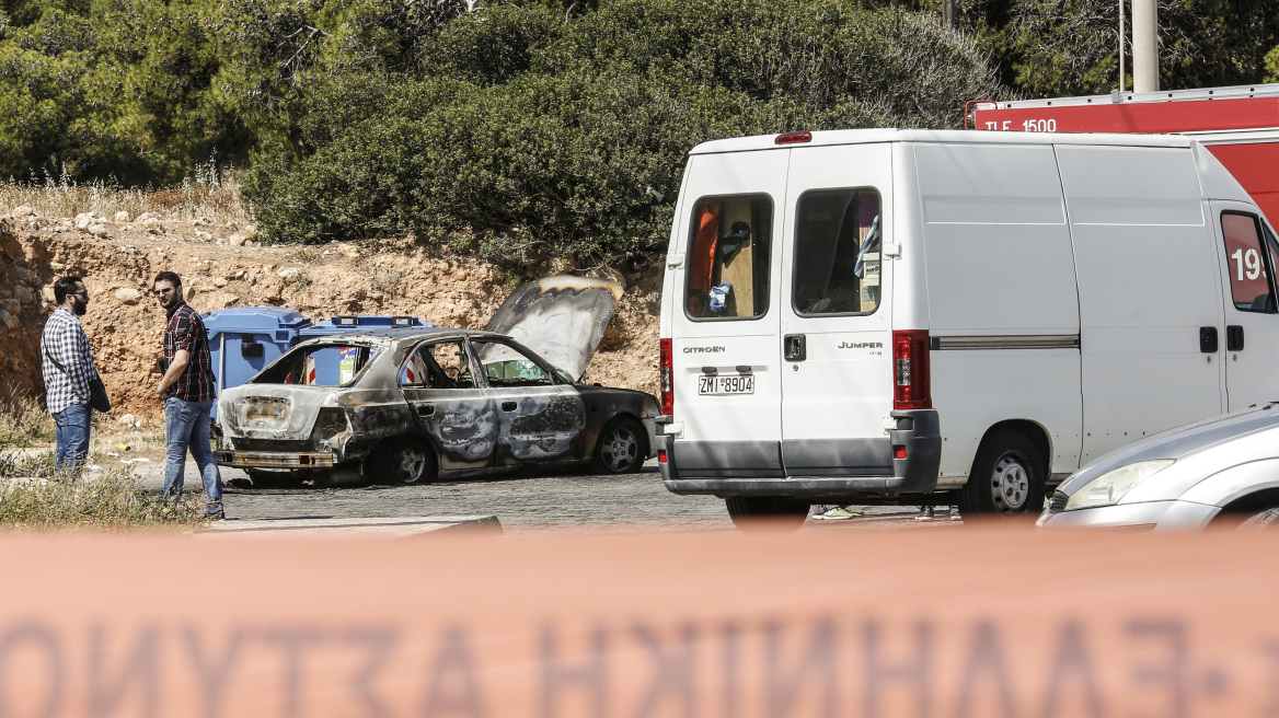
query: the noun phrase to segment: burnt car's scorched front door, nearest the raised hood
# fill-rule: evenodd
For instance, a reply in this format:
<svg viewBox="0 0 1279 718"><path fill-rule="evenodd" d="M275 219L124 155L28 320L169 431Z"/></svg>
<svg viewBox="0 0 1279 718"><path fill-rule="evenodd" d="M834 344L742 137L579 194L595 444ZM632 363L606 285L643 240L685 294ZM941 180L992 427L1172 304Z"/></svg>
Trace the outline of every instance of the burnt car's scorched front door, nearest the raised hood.
<svg viewBox="0 0 1279 718"><path fill-rule="evenodd" d="M572 461L585 455L586 408L577 388L528 349L472 339L498 406L498 466Z"/></svg>

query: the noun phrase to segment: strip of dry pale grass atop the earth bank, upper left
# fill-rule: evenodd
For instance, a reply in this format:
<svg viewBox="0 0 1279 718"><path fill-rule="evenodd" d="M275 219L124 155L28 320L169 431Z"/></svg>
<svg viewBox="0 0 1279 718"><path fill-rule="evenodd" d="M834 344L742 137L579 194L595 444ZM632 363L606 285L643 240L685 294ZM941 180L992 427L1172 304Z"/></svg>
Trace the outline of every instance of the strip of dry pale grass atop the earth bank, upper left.
<svg viewBox="0 0 1279 718"><path fill-rule="evenodd" d="M42 181L0 183L0 213L29 206L42 217L74 217L96 212L111 218L124 211L137 217L155 212L162 220L246 226L253 222L252 206L240 197L234 172L206 167L180 187L164 189L125 188L114 183L77 183L65 174L46 175Z"/></svg>

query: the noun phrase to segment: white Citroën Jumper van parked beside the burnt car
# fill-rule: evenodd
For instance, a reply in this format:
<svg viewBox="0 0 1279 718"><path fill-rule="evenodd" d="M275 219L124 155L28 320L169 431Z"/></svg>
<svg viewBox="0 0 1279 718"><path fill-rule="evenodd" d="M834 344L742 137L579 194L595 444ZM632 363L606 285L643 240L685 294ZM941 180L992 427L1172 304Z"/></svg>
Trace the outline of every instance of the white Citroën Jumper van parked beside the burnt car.
<svg viewBox="0 0 1279 718"><path fill-rule="evenodd" d="M1276 266L1184 137L700 144L663 287L663 479L734 520L1037 512L1115 446L1279 400Z"/></svg>

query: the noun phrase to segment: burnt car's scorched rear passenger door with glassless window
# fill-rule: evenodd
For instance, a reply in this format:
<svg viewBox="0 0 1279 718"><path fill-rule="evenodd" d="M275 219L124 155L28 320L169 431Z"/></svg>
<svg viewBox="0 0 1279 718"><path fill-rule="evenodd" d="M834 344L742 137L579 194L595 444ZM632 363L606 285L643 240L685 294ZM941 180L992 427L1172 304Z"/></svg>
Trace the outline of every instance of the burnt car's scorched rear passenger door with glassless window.
<svg viewBox="0 0 1279 718"><path fill-rule="evenodd" d="M435 439L440 469L475 471L492 465L498 410L471 370L460 339L417 345L399 369L399 385L418 427Z"/></svg>

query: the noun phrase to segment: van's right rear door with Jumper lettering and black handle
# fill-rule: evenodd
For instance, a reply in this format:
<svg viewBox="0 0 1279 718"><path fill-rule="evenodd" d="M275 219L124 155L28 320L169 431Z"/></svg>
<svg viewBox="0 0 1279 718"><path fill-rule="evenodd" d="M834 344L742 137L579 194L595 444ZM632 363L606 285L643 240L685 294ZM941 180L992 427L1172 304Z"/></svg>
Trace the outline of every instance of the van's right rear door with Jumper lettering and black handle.
<svg viewBox="0 0 1279 718"><path fill-rule="evenodd" d="M788 475L893 475L891 147L790 151L778 302Z"/></svg>

